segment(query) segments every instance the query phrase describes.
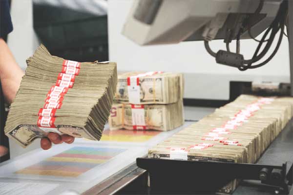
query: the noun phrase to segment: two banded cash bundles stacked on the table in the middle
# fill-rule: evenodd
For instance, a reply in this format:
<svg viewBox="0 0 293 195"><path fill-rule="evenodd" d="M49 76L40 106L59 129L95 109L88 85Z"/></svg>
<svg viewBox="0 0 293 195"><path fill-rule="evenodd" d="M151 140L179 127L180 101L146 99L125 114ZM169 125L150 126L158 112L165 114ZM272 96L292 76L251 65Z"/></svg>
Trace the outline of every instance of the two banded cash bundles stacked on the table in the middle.
<svg viewBox="0 0 293 195"><path fill-rule="evenodd" d="M169 72L130 72L118 75L110 130L168 131L184 123L184 79Z"/></svg>

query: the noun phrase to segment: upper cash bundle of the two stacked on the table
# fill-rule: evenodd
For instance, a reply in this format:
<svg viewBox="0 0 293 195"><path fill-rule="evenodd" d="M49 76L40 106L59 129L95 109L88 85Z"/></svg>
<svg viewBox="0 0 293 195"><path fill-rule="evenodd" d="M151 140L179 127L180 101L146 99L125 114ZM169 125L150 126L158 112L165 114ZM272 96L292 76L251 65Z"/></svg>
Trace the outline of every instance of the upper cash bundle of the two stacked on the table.
<svg viewBox="0 0 293 195"><path fill-rule="evenodd" d="M169 72L130 72L118 75L115 101L168 104L183 98L183 75Z"/></svg>

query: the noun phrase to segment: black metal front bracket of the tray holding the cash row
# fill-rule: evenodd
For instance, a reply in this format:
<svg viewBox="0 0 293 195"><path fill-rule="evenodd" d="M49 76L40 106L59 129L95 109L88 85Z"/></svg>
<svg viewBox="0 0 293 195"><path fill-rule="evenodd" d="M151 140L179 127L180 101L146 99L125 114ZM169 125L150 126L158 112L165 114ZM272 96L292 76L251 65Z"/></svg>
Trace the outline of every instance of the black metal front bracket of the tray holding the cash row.
<svg viewBox="0 0 293 195"><path fill-rule="evenodd" d="M262 180L273 186L273 192L288 194L293 183L292 164L282 166L137 158L137 166L150 176L153 194L214 193L234 178ZM265 171L266 170L266 171Z"/></svg>

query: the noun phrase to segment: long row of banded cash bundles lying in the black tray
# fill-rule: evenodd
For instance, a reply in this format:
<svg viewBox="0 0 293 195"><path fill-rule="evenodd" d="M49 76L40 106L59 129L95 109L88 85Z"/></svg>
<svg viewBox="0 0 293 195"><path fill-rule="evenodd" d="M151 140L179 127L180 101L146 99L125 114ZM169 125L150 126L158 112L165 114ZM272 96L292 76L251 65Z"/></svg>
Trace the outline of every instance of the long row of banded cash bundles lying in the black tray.
<svg viewBox="0 0 293 195"><path fill-rule="evenodd" d="M148 157L255 163L293 116L293 98L242 95L169 137ZM236 180L220 192L232 192Z"/></svg>

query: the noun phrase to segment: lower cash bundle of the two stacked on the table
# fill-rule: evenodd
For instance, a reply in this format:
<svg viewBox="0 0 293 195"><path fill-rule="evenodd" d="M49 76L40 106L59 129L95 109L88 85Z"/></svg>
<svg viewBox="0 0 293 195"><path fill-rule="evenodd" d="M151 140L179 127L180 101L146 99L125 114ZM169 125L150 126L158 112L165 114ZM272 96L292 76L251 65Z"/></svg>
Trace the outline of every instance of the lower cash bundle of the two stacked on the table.
<svg viewBox="0 0 293 195"><path fill-rule="evenodd" d="M109 117L110 130L168 131L184 123L183 102L171 104L114 103Z"/></svg>

